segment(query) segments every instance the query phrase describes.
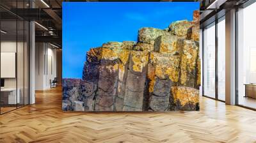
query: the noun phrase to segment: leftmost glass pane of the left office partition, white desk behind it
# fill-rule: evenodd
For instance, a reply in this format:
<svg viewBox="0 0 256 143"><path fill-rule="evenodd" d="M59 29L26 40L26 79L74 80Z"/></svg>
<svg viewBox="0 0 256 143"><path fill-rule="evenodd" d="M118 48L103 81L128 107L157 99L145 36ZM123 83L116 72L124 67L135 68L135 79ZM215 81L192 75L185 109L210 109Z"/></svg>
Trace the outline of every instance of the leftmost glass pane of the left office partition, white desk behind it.
<svg viewBox="0 0 256 143"><path fill-rule="evenodd" d="M1 114L16 109L17 22L1 21ZM4 31L4 32L3 32Z"/></svg>

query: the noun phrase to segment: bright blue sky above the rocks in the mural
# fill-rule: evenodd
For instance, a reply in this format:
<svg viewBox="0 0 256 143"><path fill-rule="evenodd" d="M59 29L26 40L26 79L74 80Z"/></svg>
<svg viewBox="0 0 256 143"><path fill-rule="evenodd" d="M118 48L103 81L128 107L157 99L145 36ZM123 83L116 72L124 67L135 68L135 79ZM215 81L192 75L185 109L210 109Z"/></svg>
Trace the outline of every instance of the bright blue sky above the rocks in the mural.
<svg viewBox="0 0 256 143"><path fill-rule="evenodd" d="M138 29L192 20L199 3L63 3L63 78L81 78L86 51L107 41L137 41Z"/></svg>

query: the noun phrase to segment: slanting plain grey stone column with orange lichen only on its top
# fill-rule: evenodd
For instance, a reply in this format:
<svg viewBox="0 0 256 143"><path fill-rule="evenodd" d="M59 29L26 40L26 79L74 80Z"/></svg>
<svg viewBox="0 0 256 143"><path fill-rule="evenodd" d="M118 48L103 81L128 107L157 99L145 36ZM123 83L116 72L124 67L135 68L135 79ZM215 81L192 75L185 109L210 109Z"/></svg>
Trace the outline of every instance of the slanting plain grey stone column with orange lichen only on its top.
<svg viewBox="0 0 256 143"><path fill-rule="evenodd" d="M138 111L142 110L143 108L147 64L148 52L131 52L125 86L124 111Z"/></svg>

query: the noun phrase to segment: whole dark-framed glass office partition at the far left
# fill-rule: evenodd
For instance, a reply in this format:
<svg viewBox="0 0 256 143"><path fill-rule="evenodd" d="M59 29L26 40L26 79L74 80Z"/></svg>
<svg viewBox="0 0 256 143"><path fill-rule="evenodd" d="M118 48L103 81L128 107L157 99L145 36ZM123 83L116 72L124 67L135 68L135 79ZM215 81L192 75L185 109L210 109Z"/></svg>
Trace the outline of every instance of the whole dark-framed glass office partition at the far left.
<svg viewBox="0 0 256 143"><path fill-rule="evenodd" d="M28 8L29 1L12 2L11 8ZM29 22L0 8L0 114L29 104ZM8 70L7 70L8 69Z"/></svg>

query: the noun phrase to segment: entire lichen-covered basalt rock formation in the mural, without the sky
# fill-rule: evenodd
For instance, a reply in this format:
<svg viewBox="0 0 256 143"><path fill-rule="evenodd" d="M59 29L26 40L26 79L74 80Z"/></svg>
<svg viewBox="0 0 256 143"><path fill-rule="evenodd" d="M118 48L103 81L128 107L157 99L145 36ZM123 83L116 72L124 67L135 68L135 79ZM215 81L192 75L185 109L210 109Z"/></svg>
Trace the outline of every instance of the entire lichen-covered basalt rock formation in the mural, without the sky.
<svg viewBox="0 0 256 143"><path fill-rule="evenodd" d="M199 110L199 15L195 10L193 20L166 29L141 27L138 41L106 41L88 50L82 78L63 79L62 109Z"/></svg>

